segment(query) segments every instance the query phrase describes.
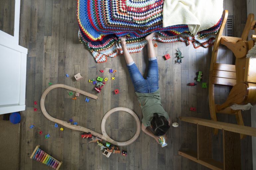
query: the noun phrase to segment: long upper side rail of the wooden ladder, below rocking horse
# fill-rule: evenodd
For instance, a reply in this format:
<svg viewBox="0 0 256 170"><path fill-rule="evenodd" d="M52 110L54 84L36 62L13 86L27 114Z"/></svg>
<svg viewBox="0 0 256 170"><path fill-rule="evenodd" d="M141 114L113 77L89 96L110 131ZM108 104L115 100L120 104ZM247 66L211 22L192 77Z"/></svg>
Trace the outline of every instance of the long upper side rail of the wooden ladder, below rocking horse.
<svg viewBox="0 0 256 170"><path fill-rule="evenodd" d="M248 126L241 126L241 125L236 125L236 124L231 124L231 123L224 123L224 122L200 119L200 118L195 118L195 117L179 117L179 119L182 121L185 121L185 122L190 122L190 123L194 123L194 124L217 128L217 129L224 129L224 130L230 131L230 132L236 132L236 133L240 133L240 134L256 136L256 128L252 128L252 127L248 127Z"/></svg>

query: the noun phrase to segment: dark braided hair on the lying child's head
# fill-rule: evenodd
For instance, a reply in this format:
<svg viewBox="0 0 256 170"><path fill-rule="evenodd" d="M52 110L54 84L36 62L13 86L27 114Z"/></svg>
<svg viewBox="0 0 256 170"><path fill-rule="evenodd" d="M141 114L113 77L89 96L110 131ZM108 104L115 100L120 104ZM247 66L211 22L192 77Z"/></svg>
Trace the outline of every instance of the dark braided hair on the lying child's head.
<svg viewBox="0 0 256 170"><path fill-rule="evenodd" d="M151 120L151 126L156 136L162 136L166 134L170 128L169 122L164 116L159 116L157 113L154 113L154 117Z"/></svg>

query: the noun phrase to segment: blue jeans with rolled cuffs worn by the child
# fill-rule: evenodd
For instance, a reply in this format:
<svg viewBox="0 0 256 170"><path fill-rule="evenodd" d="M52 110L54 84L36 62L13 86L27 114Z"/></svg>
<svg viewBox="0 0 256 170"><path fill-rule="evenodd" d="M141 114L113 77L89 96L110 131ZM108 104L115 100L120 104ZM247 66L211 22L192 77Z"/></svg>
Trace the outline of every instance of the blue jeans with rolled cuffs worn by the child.
<svg viewBox="0 0 256 170"><path fill-rule="evenodd" d="M153 93L159 88L157 59L149 61L146 79L143 78L135 63L127 65L127 68L136 92Z"/></svg>

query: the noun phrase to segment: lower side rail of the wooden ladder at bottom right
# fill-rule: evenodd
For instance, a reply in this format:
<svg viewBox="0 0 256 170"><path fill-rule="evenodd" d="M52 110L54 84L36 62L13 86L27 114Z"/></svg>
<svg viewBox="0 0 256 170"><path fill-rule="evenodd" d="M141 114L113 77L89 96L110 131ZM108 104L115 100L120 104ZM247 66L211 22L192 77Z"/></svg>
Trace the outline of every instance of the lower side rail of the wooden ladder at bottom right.
<svg viewBox="0 0 256 170"><path fill-rule="evenodd" d="M197 159L196 151L179 151L179 155L213 170L223 170L223 163L214 159Z"/></svg>

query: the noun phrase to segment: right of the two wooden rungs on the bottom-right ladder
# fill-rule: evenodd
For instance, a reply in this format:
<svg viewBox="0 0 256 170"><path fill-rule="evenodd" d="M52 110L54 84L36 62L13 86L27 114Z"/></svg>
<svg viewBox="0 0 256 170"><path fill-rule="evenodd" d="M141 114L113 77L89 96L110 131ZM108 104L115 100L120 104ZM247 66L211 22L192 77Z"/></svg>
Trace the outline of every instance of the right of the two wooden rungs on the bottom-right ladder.
<svg viewBox="0 0 256 170"><path fill-rule="evenodd" d="M238 133L223 130L223 160L225 170L241 169L241 146Z"/></svg>

